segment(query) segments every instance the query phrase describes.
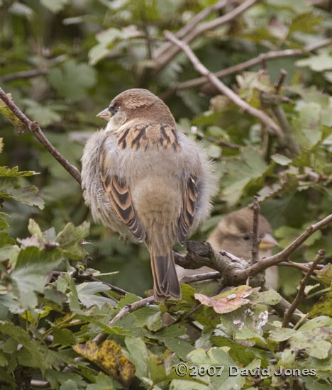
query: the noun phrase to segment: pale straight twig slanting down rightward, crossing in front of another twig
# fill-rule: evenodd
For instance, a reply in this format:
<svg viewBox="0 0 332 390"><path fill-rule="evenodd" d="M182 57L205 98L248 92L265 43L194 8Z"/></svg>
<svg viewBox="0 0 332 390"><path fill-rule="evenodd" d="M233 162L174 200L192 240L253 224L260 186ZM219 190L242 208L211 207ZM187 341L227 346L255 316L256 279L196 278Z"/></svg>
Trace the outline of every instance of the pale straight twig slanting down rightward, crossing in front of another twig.
<svg viewBox="0 0 332 390"><path fill-rule="evenodd" d="M178 40L175 38L175 35L170 33L170 31L164 32L165 37L170 40L171 42L175 43L179 48L181 48L189 57L189 60L192 61L192 64L194 65L194 68L197 70L197 72L203 74L206 79L209 79L209 81L214 84L216 88L218 88L219 91L221 91L222 94L228 96L231 101L233 101L235 104L237 104L241 110L248 112L250 115L255 116L258 118L262 123L265 123L268 127L275 130L275 133L282 137L282 130L281 128L272 121L272 119L267 116L263 111L258 110L258 108L255 108L253 106L250 106L246 101L240 98L234 91L232 91L230 88L226 87L223 82L221 82L218 77L216 77L213 73L209 72L206 67L199 61L196 55L194 55L194 52L192 51L189 46L182 42L181 40Z"/></svg>

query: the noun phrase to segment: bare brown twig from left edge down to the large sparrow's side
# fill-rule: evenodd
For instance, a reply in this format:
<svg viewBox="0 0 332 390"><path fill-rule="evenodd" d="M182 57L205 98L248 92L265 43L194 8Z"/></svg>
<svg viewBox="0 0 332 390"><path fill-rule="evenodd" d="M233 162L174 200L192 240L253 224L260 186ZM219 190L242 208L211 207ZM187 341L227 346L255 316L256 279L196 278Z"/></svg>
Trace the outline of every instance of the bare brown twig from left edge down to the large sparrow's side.
<svg viewBox="0 0 332 390"><path fill-rule="evenodd" d="M35 138L38 139L38 141L45 146L45 149L50 152L50 154L55 157L55 160L57 162L60 162L62 167L66 169L67 172L69 172L72 177L80 184L81 183L81 174L79 172L79 169L72 165L68 160L65 159L61 155L60 152L58 152L57 149L50 143L50 141L45 137L45 134L41 130L39 123L37 121L31 121L21 110L16 106L16 104L9 99L9 96L6 95L6 92L0 88L0 98L2 101L4 101L4 104L17 116L17 118L26 125L26 127L31 130Z"/></svg>

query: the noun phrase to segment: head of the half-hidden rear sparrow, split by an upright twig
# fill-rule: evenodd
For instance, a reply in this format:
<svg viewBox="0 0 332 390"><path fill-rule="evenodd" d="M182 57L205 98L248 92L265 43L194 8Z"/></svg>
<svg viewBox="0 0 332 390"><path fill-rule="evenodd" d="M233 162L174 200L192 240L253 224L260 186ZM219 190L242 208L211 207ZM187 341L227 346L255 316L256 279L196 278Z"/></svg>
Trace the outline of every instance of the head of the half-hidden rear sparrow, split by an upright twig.
<svg viewBox="0 0 332 390"><path fill-rule="evenodd" d="M221 219L208 238L215 250L226 250L237 257L250 259L253 238L253 210L245 207L233 211ZM272 228L263 216L258 218L258 238L260 238L260 258L270 255L277 241L272 237Z"/></svg>

